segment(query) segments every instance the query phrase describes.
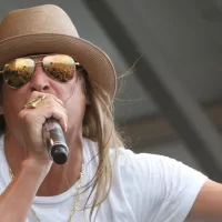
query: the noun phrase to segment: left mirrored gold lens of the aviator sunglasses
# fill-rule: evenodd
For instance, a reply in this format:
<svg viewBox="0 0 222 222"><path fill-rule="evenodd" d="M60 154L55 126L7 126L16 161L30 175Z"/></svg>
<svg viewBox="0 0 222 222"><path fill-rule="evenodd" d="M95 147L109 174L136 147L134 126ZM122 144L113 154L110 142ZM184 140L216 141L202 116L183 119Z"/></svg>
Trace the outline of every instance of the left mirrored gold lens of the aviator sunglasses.
<svg viewBox="0 0 222 222"><path fill-rule="evenodd" d="M4 65L4 80L9 87L17 89L31 79L33 71L34 61L32 59L16 59Z"/></svg>

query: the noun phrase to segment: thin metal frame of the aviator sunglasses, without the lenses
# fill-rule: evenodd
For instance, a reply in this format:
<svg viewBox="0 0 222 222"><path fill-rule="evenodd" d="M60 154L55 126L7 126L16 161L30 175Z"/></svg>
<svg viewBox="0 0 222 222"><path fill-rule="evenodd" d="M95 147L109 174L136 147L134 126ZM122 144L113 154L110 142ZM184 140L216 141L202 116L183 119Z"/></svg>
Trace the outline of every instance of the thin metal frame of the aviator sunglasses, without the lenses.
<svg viewBox="0 0 222 222"><path fill-rule="evenodd" d="M27 57L19 57L19 58L16 58L16 59L10 60L10 62L13 61L13 60L17 60L17 59L32 59L32 58L42 57L40 61L34 61L34 60L32 59L33 62L34 62L34 70L33 70L33 73L34 73L34 71L36 71L36 65L39 64L39 63L42 63L42 60L43 60L46 57L48 57L48 56L59 56L59 53L53 53L53 54L33 54L33 56L27 56ZM71 58L73 59L73 61L74 61L74 65L75 65L75 67L82 67L79 62L75 62L75 60L74 60L74 58L73 58L72 56L70 56L70 54L61 54L61 56L71 57ZM8 63L6 63L6 64L3 65L3 69L0 70L0 74L3 75L3 79L4 79L4 67L6 67L7 64L8 64ZM46 74L47 74L49 78L51 78L52 80L54 80L54 81L57 81L57 82L60 82L60 81L57 80L56 78L52 78L52 75L50 75L50 74L48 73L48 71L44 70L44 67L43 67L43 65L42 65L42 68L43 68L43 71L46 72ZM32 73L31 79L33 78L33 73ZM31 80L31 79L30 79L30 80ZM29 81L30 81L30 80L29 80ZM28 82L29 82L29 81L28 81ZM24 84L27 84L28 82L26 82ZM60 83L64 83L64 82L60 82ZM22 84L22 85L20 85L20 87L11 87L11 85L9 85L9 84L7 83L7 85L8 85L10 89L14 89L14 90L17 90L17 89L23 87L24 84Z"/></svg>

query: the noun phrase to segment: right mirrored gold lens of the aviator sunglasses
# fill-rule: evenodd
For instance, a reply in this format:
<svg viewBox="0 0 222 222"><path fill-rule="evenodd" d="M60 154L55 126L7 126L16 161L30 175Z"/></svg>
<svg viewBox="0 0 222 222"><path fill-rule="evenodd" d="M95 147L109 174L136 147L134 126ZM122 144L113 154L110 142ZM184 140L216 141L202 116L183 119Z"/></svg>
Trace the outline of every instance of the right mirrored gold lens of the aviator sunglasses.
<svg viewBox="0 0 222 222"><path fill-rule="evenodd" d="M68 82L74 77L74 60L67 54L47 56L42 63L44 71L59 82Z"/></svg>

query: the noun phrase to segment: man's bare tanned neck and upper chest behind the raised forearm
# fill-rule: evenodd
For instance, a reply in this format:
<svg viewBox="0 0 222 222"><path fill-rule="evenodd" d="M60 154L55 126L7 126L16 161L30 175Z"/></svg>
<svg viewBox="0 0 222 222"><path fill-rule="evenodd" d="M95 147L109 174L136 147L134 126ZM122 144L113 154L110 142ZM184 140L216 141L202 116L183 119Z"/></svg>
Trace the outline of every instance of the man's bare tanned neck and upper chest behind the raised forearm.
<svg viewBox="0 0 222 222"><path fill-rule="evenodd" d="M20 171L22 161L27 158L24 149L22 145L18 144L18 141L7 132L4 135L4 152L8 164L14 176ZM70 141L68 147L70 149L68 161L62 165L56 163L52 164L50 172L40 185L37 195L51 196L61 194L79 180L83 161L82 138Z"/></svg>

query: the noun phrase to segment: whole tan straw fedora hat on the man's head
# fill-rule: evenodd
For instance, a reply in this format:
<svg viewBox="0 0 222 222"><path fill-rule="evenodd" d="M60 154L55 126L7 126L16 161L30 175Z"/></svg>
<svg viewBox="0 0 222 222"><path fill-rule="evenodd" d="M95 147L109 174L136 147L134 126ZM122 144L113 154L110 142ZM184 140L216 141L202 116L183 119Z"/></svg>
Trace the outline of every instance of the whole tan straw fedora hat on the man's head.
<svg viewBox="0 0 222 222"><path fill-rule="evenodd" d="M58 6L44 4L9 12L0 23L0 68L11 59L37 53L72 56L89 79L115 94L115 71L110 58L79 37L69 16Z"/></svg>

